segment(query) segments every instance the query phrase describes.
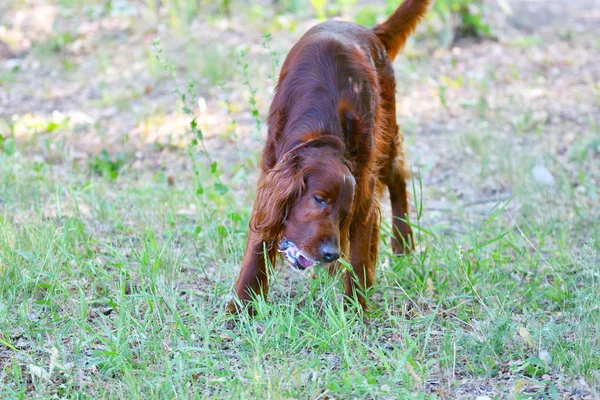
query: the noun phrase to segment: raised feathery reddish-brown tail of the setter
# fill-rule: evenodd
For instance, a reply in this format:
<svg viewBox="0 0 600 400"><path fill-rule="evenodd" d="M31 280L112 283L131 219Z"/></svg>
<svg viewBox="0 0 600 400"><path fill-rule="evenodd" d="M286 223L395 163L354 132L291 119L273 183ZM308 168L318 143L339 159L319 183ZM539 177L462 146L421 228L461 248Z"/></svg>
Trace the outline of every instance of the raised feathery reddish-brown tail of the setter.
<svg viewBox="0 0 600 400"><path fill-rule="evenodd" d="M384 23L373 27L373 32L383 43L390 60L394 61L398 52L402 50L406 39L427 13L429 3L430 0L404 0Z"/></svg>

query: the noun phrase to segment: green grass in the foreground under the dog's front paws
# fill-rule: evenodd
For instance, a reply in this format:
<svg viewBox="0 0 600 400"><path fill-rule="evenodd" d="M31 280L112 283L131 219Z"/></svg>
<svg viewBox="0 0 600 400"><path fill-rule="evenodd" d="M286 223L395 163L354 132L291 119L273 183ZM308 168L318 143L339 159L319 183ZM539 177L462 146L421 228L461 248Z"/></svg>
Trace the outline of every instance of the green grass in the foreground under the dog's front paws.
<svg viewBox="0 0 600 400"><path fill-rule="evenodd" d="M533 383L553 393L559 376L600 382L586 215L456 212L425 224L411 257L382 244L366 318L343 310L339 280L279 274L258 316L234 322L223 305L250 191L214 202L127 169L0 165L2 397L397 398L503 375L504 390L526 379L525 396Z"/></svg>

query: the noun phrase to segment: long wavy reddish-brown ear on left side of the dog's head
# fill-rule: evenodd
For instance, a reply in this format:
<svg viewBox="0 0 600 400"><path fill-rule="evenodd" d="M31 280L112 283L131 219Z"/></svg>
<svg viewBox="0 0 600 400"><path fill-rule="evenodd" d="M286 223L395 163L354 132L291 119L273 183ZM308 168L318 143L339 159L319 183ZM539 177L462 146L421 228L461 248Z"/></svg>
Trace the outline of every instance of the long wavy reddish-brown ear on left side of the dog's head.
<svg viewBox="0 0 600 400"><path fill-rule="evenodd" d="M250 229L262 241L270 244L280 239L290 207L304 188L300 164L298 155L290 155L263 172L258 180Z"/></svg>

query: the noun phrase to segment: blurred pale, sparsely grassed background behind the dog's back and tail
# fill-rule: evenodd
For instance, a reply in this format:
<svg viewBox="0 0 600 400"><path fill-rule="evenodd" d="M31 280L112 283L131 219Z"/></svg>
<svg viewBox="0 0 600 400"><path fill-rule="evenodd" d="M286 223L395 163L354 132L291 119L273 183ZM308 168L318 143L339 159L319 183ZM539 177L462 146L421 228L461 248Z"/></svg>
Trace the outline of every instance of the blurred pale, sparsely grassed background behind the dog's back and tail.
<svg viewBox="0 0 600 400"><path fill-rule="evenodd" d="M293 43L319 20L372 26L398 3L5 0L0 147L175 179L191 171L178 149L195 118L219 168L252 166ZM597 0L435 2L395 62L406 152L435 198L558 177L596 196L599 32Z"/></svg>

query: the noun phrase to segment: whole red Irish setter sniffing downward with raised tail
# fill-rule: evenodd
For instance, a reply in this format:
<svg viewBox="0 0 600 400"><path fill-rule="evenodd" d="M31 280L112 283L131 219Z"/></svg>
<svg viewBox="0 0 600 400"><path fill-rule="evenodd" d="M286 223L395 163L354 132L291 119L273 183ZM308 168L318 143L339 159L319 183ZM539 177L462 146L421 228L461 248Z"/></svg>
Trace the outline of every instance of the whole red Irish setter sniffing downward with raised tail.
<svg viewBox="0 0 600 400"><path fill-rule="evenodd" d="M266 296L265 260L278 252L297 269L352 265L345 293L363 308L375 279L379 197L390 192L395 253L414 247L402 134L396 124L392 61L427 12L405 0L367 29L329 21L310 29L288 54L269 111L269 133L250 230L230 312Z"/></svg>

